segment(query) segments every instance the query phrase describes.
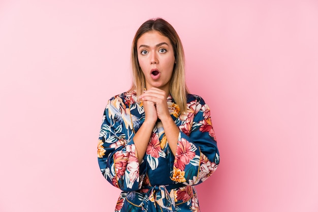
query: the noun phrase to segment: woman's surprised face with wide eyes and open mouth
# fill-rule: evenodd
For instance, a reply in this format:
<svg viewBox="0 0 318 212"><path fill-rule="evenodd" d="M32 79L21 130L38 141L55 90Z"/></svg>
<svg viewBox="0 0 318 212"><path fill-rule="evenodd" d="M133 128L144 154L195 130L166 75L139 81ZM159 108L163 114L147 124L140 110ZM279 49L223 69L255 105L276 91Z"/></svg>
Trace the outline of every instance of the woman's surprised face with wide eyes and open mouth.
<svg viewBox="0 0 318 212"><path fill-rule="evenodd" d="M156 87L169 94L175 57L170 40L158 31L144 33L137 41L138 62L146 88Z"/></svg>

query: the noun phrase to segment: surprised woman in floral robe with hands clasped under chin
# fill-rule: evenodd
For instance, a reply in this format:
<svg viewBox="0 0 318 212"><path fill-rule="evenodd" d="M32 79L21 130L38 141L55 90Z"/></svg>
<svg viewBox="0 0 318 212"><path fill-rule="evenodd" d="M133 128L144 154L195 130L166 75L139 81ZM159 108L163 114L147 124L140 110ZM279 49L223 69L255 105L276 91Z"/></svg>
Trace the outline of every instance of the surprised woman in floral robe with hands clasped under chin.
<svg viewBox="0 0 318 212"><path fill-rule="evenodd" d="M115 211L200 211L194 185L219 157L208 105L187 92L178 34L146 21L131 60L133 86L108 101L98 147L103 175L122 190Z"/></svg>

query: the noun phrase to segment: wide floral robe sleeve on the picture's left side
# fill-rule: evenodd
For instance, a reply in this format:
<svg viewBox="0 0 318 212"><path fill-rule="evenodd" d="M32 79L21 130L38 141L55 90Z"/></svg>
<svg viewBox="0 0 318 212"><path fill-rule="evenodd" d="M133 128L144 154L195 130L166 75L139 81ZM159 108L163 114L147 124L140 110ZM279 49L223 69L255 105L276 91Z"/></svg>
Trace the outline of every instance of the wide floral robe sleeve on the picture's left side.
<svg viewBox="0 0 318 212"><path fill-rule="evenodd" d="M140 189L146 167L138 163L129 109L113 97L105 108L98 144L98 162L109 183L122 191Z"/></svg>

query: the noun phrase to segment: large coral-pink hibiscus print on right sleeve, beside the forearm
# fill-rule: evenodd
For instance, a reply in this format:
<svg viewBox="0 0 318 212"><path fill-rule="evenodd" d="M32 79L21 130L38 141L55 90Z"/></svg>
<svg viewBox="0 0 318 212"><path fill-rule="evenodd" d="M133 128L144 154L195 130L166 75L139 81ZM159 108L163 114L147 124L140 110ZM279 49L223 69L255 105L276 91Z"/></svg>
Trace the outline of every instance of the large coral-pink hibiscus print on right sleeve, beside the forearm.
<svg viewBox="0 0 318 212"><path fill-rule="evenodd" d="M196 153L192 150L192 145L184 138L178 142L174 166L184 170L185 165L195 157Z"/></svg>

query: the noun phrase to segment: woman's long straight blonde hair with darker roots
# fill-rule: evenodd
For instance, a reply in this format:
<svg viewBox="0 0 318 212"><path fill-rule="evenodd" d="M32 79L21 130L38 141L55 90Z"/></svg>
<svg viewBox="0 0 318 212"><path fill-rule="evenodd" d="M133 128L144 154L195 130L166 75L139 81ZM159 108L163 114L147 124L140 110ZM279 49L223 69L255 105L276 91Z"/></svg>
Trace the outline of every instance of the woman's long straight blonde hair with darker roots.
<svg viewBox="0 0 318 212"><path fill-rule="evenodd" d="M188 90L185 85L185 63L182 43L176 30L170 23L162 18L147 20L139 27L135 34L131 54L133 70L133 85L131 90L136 90L138 96L143 93L145 87L145 76L138 62L137 41L144 33L153 30L158 31L163 36L167 37L173 47L176 63L171 77L170 93L179 105L180 112L186 112L186 94L188 93Z"/></svg>

